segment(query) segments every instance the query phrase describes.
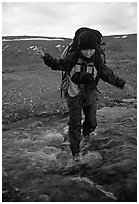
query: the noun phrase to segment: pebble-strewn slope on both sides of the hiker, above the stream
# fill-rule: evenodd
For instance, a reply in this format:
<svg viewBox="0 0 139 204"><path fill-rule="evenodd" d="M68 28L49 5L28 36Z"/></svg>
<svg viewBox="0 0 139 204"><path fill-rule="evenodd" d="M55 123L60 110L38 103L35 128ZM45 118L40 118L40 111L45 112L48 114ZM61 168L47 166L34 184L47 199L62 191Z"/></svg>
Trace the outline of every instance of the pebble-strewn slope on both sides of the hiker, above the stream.
<svg viewBox="0 0 139 204"><path fill-rule="evenodd" d="M56 45L66 46L65 41L5 41L3 48L3 123L28 118L42 111L46 113L65 110L60 98L61 73L51 71L43 60L34 55L30 46L42 47L54 57L61 52ZM133 93L121 91L103 81L98 86L102 94L98 106L115 105L123 98L136 97L136 35L125 39L106 37L107 65L132 86Z"/></svg>

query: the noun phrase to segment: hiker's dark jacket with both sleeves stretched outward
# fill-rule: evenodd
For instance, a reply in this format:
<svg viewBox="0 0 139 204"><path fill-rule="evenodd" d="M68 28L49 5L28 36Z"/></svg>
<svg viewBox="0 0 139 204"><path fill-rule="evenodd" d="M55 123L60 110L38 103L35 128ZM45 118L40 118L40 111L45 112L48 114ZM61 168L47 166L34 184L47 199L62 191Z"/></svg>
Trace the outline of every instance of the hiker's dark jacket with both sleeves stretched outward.
<svg viewBox="0 0 139 204"><path fill-rule="evenodd" d="M45 56L42 58L44 63L51 67L52 70L66 71L69 74L76 65L80 64L81 66L83 65L83 67L87 67L88 64L93 63L94 68L97 70L97 75L95 78L92 74L92 77L88 79L87 74L81 71L77 72L75 77L73 76L73 82L78 86L85 85L86 90L96 90L100 78L116 87L121 89L124 88L125 80L121 79L119 76L116 76L113 70L106 66L106 64L103 62L99 49L96 49L95 54L90 59L86 59L78 51L68 54L65 59L53 58L48 53L45 53ZM81 63L78 63L79 59L81 59Z"/></svg>

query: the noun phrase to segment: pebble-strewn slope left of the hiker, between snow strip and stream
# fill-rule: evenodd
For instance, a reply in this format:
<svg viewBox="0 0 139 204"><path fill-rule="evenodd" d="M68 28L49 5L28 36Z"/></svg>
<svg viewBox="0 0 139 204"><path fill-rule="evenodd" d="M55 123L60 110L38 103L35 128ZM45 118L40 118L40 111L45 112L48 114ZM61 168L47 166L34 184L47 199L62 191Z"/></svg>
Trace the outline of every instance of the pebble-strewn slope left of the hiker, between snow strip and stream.
<svg viewBox="0 0 139 204"><path fill-rule="evenodd" d="M62 100L59 87L61 73L46 67L30 46L38 46L55 57L60 56L56 45L67 41L16 41L3 51L3 123L39 114L59 111ZM64 49L64 47L63 47ZM18 51L21 52L18 52Z"/></svg>

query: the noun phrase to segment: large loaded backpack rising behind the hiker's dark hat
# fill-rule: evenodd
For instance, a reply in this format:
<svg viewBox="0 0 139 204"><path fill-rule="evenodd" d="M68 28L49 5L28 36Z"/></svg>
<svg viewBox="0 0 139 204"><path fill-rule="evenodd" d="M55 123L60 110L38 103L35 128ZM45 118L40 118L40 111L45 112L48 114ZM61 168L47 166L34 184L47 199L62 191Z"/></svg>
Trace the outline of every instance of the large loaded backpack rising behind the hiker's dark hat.
<svg viewBox="0 0 139 204"><path fill-rule="evenodd" d="M62 55L61 55L61 59L64 59L69 53L75 51L77 49L78 46L78 39L79 39L79 35L84 32L84 31L91 31L93 34L95 34L96 39L97 39L97 46L100 48L100 52L101 52L101 56L103 58L103 62L106 63L106 59L105 59L105 53L104 53L104 49L101 47L102 45L105 45L102 40L103 40L103 36L102 34L98 31L98 30L94 30L91 28L87 28L87 27L82 27L79 28L76 32L75 32L75 36L72 40L72 42L64 49ZM68 91L68 87L69 87L69 74L67 72L62 71L62 83L61 83L61 98L62 98L62 93L64 93L64 97L66 97L67 95L67 91Z"/></svg>

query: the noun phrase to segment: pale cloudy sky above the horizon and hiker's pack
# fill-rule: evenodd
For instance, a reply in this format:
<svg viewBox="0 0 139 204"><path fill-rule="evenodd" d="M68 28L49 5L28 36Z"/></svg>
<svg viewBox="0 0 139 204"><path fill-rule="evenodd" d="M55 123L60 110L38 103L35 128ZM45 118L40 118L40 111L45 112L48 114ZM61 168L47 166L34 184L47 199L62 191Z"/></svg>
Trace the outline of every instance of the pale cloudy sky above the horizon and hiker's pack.
<svg viewBox="0 0 139 204"><path fill-rule="evenodd" d="M137 33L136 2L2 2L2 35L73 38L80 27L103 36Z"/></svg>

